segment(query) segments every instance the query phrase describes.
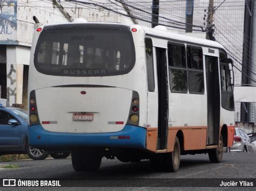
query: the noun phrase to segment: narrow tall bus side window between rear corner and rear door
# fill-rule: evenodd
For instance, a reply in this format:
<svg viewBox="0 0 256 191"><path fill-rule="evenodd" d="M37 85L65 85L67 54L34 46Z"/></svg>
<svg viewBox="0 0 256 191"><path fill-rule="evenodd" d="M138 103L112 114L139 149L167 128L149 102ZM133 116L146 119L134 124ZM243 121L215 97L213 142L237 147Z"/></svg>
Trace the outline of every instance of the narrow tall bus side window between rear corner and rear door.
<svg viewBox="0 0 256 191"><path fill-rule="evenodd" d="M145 39L147 84L150 92L154 92L153 44L151 38Z"/></svg>

